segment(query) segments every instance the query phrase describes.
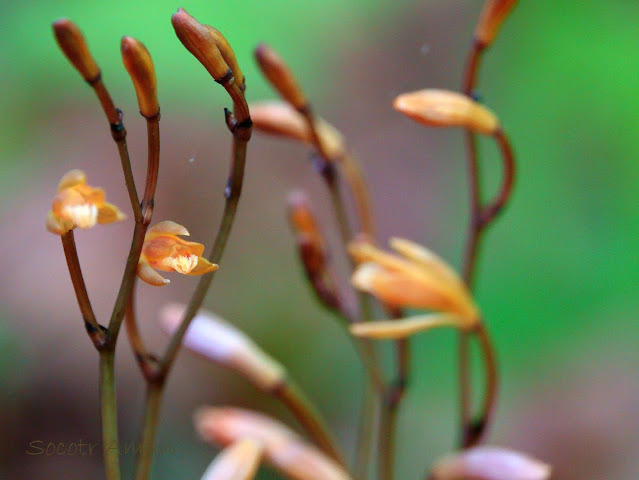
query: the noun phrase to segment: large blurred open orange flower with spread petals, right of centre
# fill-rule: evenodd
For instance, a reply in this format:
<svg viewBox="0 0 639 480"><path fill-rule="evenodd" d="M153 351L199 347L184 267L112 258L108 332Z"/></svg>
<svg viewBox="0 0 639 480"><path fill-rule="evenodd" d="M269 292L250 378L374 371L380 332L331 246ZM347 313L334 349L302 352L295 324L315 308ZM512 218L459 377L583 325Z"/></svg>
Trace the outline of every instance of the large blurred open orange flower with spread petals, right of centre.
<svg viewBox="0 0 639 480"><path fill-rule="evenodd" d="M457 273L431 251L408 240L393 238L397 253L354 242L349 251L358 264L351 278L355 288L393 308L420 308L436 313L391 321L367 322L351 333L371 338L402 338L441 326L471 329L479 312Z"/></svg>

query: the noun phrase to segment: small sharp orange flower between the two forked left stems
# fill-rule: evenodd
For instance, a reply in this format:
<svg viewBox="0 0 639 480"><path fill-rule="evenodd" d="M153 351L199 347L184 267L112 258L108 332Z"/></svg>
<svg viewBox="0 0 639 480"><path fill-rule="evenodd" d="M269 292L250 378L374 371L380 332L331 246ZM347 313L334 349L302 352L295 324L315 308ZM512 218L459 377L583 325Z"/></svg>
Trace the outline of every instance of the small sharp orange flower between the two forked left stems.
<svg viewBox="0 0 639 480"><path fill-rule="evenodd" d="M149 228L138 263L138 277L150 285L161 287L169 283L169 280L156 270L203 275L218 269L218 265L202 257L204 245L189 242L178 235L188 236L189 232L170 220Z"/></svg>

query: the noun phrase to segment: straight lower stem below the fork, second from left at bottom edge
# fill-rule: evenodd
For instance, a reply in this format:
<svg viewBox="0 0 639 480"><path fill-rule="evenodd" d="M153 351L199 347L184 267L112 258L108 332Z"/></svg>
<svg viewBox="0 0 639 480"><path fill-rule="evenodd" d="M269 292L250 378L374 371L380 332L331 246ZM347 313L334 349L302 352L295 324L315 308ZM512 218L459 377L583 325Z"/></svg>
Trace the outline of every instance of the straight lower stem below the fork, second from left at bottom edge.
<svg viewBox="0 0 639 480"><path fill-rule="evenodd" d="M157 435L158 417L162 404L164 382L149 382L144 402L144 419L140 434L140 454L136 462L135 480L148 480L151 473L155 437Z"/></svg>

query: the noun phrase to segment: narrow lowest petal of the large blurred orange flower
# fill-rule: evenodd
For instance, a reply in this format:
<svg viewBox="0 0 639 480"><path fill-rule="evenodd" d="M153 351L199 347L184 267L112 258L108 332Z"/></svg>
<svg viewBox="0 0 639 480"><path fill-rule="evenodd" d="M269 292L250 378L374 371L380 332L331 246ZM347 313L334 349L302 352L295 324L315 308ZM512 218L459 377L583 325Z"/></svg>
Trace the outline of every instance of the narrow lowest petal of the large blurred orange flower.
<svg viewBox="0 0 639 480"><path fill-rule="evenodd" d="M433 313L396 320L356 323L349 328L356 337L384 340L406 338L440 327L468 330L476 324L477 319L467 319L450 313Z"/></svg>

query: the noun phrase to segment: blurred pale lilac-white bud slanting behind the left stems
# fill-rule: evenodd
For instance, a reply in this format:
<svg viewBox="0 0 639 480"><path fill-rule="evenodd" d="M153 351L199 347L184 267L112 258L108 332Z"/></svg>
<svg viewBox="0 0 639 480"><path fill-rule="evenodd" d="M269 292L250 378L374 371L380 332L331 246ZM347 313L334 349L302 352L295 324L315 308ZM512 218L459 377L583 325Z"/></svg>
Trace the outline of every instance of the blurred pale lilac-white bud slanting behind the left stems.
<svg viewBox="0 0 639 480"><path fill-rule="evenodd" d="M160 319L162 327L172 335L180 326L185 307L165 306ZM184 336L183 344L198 353L246 378L267 392L272 392L285 380L286 370L265 353L243 332L208 312L198 313Z"/></svg>

